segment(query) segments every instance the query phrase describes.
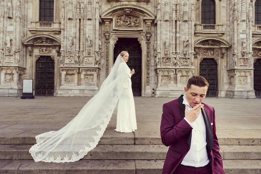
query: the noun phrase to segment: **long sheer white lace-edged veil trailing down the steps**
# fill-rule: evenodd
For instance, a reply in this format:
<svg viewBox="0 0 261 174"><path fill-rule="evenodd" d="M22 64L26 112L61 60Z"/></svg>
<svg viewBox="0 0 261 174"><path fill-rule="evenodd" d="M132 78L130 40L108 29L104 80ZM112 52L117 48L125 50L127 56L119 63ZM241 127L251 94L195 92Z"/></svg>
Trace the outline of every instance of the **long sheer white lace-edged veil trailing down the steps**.
<svg viewBox="0 0 261 174"><path fill-rule="evenodd" d="M75 162L96 147L129 78L125 66L125 61L118 55L98 93L71 122L59 131L35 137L37 144L29 150L35 162Z"/></svg>

